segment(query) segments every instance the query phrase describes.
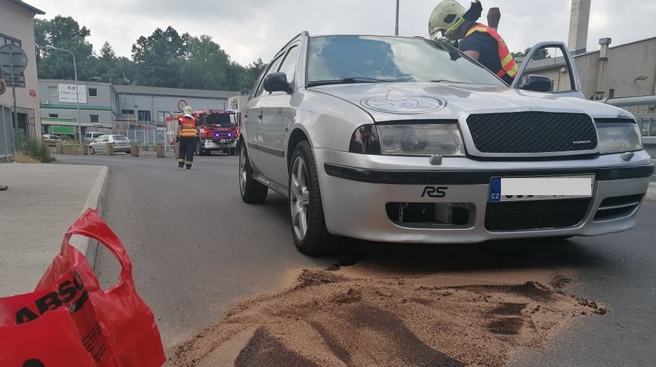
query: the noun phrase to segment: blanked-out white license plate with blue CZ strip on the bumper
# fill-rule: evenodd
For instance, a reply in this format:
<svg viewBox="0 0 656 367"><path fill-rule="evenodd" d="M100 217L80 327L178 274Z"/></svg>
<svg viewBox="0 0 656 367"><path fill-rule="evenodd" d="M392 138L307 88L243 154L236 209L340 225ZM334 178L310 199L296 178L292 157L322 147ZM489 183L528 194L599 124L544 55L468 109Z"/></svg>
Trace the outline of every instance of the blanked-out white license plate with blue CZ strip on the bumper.
<svg viewBox="0 0 656 367"><path fill-rule="evenodd" d="M490 202L592 197L595 175L492 177Z"/></svg>

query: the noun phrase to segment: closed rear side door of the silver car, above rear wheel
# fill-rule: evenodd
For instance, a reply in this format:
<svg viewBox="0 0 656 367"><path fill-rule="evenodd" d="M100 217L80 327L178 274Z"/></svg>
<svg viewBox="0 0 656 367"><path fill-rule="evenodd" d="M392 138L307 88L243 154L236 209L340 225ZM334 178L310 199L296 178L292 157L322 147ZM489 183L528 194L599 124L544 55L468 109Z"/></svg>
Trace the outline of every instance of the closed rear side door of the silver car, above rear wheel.
<svg viewBox="0 0 656 367"><path fill-rule="evenodd" d="M248 156L253 168L258 172L263 172L264 165L262 159L265 154L263 152L262 139L260 138L260 125L264 119L264 100L268 92L264 90L263 81L266 75L277 70L280 62L282 62L282 55L270 62L268 69L260 75L256 87L248 98L243 116L243 133L245 135L246 147L248 148Z"/></svg>

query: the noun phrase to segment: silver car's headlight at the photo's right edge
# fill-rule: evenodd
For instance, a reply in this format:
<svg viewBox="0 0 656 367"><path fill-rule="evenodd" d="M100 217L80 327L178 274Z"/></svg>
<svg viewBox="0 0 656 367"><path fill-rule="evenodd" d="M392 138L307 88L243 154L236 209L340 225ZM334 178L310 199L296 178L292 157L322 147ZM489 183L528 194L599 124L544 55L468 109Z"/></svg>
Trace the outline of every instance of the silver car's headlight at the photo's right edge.
<svg viewBox="0 0 656 367"><path fill-rule="evenodd" d="M601 154L625 153L642 150L642 136L638 124L631 122L598 122Z"/></svg>

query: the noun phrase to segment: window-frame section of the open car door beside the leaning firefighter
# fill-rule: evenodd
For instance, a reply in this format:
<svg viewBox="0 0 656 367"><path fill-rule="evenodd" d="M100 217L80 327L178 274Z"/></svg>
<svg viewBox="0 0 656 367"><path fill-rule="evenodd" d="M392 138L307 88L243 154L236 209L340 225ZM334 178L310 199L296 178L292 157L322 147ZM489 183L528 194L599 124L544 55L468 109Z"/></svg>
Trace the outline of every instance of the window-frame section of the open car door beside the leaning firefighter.
<svg viewBox="0 0 656 367"><path fill-rule="evenodd" d="M571 53L565 43L556 41L541 42L529 50L511 87L586 98Z"/></svg>

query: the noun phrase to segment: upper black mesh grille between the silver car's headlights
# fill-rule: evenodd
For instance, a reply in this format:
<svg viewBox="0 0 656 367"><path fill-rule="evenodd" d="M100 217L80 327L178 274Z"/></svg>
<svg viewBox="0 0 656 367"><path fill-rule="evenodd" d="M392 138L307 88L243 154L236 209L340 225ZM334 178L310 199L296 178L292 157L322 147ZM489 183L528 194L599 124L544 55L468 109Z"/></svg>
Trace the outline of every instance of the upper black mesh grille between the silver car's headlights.
<svg viewBox="0 0 656 367"><path fill-rule="evenodd" d="M596 126L586 114L472 114L467 117L467 126L476 149L488 155L581 151L597 146Z"/></svg>

